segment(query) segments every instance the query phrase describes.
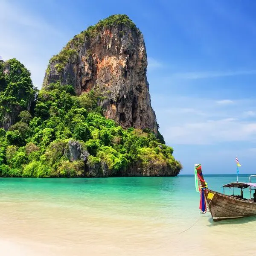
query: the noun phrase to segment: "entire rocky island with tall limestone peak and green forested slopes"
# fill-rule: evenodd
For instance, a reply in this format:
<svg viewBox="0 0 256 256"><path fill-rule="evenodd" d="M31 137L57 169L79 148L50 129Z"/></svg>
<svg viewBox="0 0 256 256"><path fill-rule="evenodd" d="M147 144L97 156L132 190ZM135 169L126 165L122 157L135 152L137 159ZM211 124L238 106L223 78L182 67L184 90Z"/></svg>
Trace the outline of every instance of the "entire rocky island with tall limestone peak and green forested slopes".
<svg viewBox="0 0 256 256"><path fill-rule="evenodd" d="M112 15L71 39L43 87L0 60L0 177L176 176L158 131L143 35Z"/></svg>

